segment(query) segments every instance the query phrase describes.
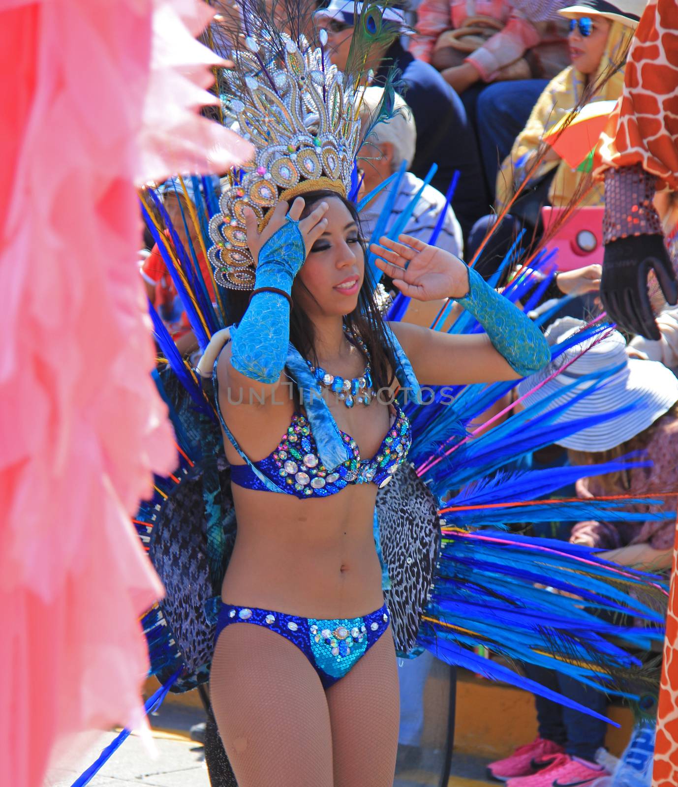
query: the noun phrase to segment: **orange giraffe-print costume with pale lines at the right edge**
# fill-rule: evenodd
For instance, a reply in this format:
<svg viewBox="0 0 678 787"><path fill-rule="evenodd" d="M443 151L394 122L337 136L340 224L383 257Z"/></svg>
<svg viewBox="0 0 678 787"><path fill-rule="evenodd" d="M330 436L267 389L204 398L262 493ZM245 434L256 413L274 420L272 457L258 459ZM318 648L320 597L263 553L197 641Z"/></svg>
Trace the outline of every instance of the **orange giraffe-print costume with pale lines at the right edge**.
<svg viewBox="0 0 678 787"><path fill-rule="evenodd" d="M678 2L650 0L628 55L624 92L598 146L607 168L642 167L678 191ZM635 206L638 209L638 205ZM653 787L678 784L678 529L673 548Z"/></svg>

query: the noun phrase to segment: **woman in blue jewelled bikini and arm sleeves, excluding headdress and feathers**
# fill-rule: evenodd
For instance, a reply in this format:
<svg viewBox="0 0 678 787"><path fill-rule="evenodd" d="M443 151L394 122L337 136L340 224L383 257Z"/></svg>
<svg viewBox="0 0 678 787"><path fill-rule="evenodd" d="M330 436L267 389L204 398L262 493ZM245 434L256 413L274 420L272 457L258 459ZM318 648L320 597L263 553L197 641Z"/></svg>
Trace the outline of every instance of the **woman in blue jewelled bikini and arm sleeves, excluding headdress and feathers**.
<svg viewBox="0 0 678 787"><path fill-rule="evenodd" d="M378 266L409 296L458 299L489 338L391 331L340 194L306 194L287 216L280 201L261 233L246 210L254 293L216 366L239 527L210 684L241 787L391 783L398 678L372 522L377 486L409 447L395 373L413 393L415 376L516 379L548 360L527 317L460 260L406 236L372 247ZM345 456L330 467L332 434Z"/></svg>

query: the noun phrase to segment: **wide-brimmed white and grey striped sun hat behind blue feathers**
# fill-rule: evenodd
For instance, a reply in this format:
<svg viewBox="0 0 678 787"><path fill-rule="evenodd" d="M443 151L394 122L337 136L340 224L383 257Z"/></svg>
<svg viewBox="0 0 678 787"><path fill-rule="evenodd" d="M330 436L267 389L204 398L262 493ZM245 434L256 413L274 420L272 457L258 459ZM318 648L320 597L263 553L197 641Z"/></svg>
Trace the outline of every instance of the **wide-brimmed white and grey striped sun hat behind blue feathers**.
<svg viewBox="0 0 678 787"><path fill-rule="evenodd" d="M580 331L584 324L572 317L556 320L546 331L546 338L551 345L563 342ZM565 405L583 390L589 389L589 393L561 414L555 423L590 418L634 405L617 418L587 427L556 441L558 445L577 451L606 451L621 445L647 429L678 401L678 379L664 364L654 360L629 358L626 354L626 342L619 331L609 331L609 334L594 343L598 338L599 336L588 338L583 343L570 347L554 364L525 378L518 385L521 396L528 394L523 400L525 407L563 391L562 396L555 396L554 400L550 401L547 410ZM584 349L586 352L577 358ZM576 360L572 361L574 358ZM569 361L572 363L563 371L538 390L529 393L552 375L556 368L565 366ZM576 384L578 379L587 375L599 373L602 377L612 369L617 371L602 382L588 377L580 385Z"/></svg>

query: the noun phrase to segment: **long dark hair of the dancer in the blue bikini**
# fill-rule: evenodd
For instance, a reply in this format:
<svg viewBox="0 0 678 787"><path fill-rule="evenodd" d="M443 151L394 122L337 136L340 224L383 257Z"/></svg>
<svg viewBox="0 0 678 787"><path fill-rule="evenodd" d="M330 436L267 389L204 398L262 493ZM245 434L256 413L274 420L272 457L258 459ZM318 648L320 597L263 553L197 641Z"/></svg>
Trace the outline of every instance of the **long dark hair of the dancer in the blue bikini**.
<svg viewBox="0 0 678 787"><path fill-rule="evenodd" d="M303 198L305 205L302 217L308 216L309 212L313 210L313 207L317 205L320 200L331 198L341 200L343 205L346 205L346 209L350 212L355 223L358 225L358 231L360 231L360 218L355 209L355 205L343 198L341 194L323 189L309 191L308 194L303 195ZM376 283L372 275L370 275L367 266L367 249L365 247L365 241L361 235L359 235L359 238L361 248L363 253L365 253L365 277L360 292L358 293L358 305L350 314L344 317L344 323L351 334L359 336L362 341L365 342L370 355L374 387L376 390L379 390L380 388L391 386L397 364L395 363L395 350L385 330L379 308L376 305L374 297ZM302 290L306 290L306 294L313 297L310 295L309 290L306 289L301 279L297 277L295 283L292 285L293 305L290 315L290 341L295 345L303 357L310 360L311 363L316 364L317 354L314 342L315 331L313 329L313 321L302 309L298 297L298 294ZM230 290L228 293L229 320L234 323L239 323L246 312L248 302L249 293Z"/></svg>

